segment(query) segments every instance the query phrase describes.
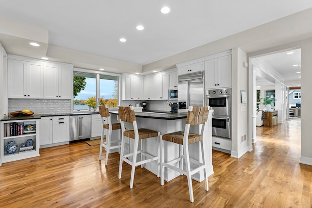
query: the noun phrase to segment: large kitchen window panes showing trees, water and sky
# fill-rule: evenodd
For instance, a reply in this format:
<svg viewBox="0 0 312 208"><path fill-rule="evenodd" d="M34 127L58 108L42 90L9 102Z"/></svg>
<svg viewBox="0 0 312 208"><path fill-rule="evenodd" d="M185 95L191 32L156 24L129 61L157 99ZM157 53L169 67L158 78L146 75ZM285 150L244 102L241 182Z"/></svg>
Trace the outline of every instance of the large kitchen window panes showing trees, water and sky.
<svg viewBox="0 0 312 208"><path fill-rule="evenodd" d="M117 107L118 76L74 71L73 110L98 109L98 105Z"/></svg>

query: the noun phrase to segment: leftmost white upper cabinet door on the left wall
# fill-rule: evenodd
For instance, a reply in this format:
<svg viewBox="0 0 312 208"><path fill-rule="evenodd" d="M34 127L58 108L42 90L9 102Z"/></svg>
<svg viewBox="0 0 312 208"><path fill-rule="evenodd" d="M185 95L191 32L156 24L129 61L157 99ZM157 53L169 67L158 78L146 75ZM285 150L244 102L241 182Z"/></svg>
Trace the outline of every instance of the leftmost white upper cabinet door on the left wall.
<svg viewBox="0 0 312 208"><path fill-rule="evenodd" d="M27 97L27 62L8 60L8 98Z"/></svg>

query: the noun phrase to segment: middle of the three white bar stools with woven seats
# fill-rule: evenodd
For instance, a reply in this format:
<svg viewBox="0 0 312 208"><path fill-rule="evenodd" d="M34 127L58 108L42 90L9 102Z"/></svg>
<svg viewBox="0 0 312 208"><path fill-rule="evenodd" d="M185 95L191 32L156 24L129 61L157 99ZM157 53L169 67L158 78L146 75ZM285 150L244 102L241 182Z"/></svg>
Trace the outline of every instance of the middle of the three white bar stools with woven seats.
<svg viewBox="0 0 312 208"><path fill-rule="evenodd" d="M134 107L124 107L124 106L119 106L118 107L118 116L120 119L120 124L121 124L121 130L122 130L122 136L121 136L121 151L120 151L120 161L119 161L119 173L118 173L118 178L121 179L121 171L122 171L122 163L125 161L129 165L132 166L131 168L131 178L130 178L130 189L133 188L133 181L134 181L134 176L135 176L135 170L136 166L141 165L143 168L143 164L149 163L152 161L157 160L158 163L158 173L157 177L159 177L159 163L160 163L160 158L159 158L159 134L160 132L156 132L154 130L149 130L149 129L137 129L137 120L136 120L136 114L134 111ZM125 124L124 122L129 122L132 123L133 125L133 130L125 130ZM125 149L125 137L129 137L131 139L134 139L134 146L133 146L133 152L128 152L128 154L125 154L124 149ZM147 138L153 138L157 137L157 143L158 143L158 153L157 155L151 155L147 152L144 151L144 144L143 141ZM138 150L138 143L139 140L141 141L141 148ZM130 145L130 141L129 141ZM129 148L130 150L130 148ZM137 154L140 154L141 159L140 161L137 161ZM132 160L130 158L132 157Z"/></svg>

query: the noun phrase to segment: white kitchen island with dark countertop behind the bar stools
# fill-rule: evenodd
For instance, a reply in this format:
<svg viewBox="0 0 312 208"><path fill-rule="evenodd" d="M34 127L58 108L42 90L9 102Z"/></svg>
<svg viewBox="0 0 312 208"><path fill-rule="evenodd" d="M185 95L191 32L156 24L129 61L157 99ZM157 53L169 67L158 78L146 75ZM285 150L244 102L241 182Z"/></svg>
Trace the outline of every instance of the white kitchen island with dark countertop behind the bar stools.
<svg viewBox="0 0 312 208"><path fill-rule="evenodd" d="M118 122L118 111L110 111L112 123ZM185 122L186 122L186 114L178 114L178 113L151 113L151 112L136 112L137 118L137 126L138 128L146 128L155 131L159 131L160 134L172 133L177 131L184 131ZM208 175L214 173L213 165L212 165L212 110L209 111L208 128L205 129L204 134L208 137L208 142L206 142L208 150L207 158L206 158L206 166L208 170ZM132 128L131 126L128 126ZM199 133L201 130L201 125L191 127L190 132ZM118 133L115 132L115 135L112 135L112 138L118 137ZM131 140L130 140L131 141ZM126 141L127 142L127 141ZM157 138L148 139L145 141L145 150L153 155L157 155ZM132 146L132 145L131 145ZM132 151L132 150L130 150ZM201 148L199 143L195 143L189 146L190 157L197 159L201 158ZM179 147L177 144L172 142L165 141L165 150L164 150L164 160L170 161L179 154ZM157 174L157 161L153 161L151 163L145 164L144 168ZM179 173L175 170L167 170L165 168L164 178L166 181L170 181L175 177L179 176ZM203 171L195 174L192 177L194 180L201 182L204 180Z"/></svg>

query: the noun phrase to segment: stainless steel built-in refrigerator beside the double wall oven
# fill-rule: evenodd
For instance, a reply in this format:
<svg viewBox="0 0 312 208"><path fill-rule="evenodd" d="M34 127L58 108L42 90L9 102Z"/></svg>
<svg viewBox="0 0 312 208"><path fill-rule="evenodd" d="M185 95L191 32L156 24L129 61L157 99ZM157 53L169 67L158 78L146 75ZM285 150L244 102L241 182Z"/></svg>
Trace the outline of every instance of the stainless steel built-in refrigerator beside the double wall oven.
<svg viewBox="0 0 312 208"><path fill-rule="evenodd" d="M204 72L178 76L178 112L187 113L189 106L204 106Z"/></svg>

